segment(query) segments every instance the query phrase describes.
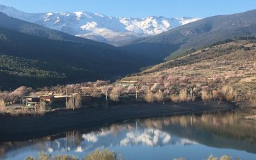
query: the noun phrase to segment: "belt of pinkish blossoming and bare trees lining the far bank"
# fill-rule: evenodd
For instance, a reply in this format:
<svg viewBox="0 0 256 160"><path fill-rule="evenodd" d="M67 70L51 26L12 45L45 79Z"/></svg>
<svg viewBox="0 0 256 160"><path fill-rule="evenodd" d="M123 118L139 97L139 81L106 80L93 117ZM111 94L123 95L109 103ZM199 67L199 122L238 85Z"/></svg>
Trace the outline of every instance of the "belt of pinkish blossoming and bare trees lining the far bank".
<svg viewBox="0 0 256 160"><path fill-rule="evenodd" d="M98 80L81 84L58 85L51 88L41 88L41 90L54 93L66 93L67 91L68 93L85 93L92 97L106 97L106 99L115 101L137 95L138 98L147 102L163 102L168 99L175 102L191 101L195 100L196 97L201 97L206 102L211 99L222 100L227 98L225 97L226 93L220 88L221 81L218 74L213 75L209 81L204 83L194 83L193 77L169 75L159 76L157 79L143 79L130 85ZM73 104L72 100L69 104Z"/></svg>

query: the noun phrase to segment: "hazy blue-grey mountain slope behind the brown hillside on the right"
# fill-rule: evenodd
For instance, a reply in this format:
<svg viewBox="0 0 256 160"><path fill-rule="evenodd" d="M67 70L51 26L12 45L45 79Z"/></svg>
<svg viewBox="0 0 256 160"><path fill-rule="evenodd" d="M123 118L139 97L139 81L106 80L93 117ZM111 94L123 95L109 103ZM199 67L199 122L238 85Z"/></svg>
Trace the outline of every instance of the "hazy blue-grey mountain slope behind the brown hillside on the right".
<svg viewBox="0 0 256 160"><path fill-rule="evenodd" d="M153 63L172 60L227 39L255 38L256 10L196 20L159 35L134 40L122 47L150 58Z"/></svg>

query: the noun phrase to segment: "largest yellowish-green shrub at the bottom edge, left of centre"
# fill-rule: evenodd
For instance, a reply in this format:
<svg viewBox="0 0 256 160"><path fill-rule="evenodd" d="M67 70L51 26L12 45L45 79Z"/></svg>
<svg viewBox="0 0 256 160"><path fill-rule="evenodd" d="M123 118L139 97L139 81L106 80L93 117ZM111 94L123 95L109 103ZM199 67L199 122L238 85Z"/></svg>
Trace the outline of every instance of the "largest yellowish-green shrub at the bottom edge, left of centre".
<svg viewBox="0 0 256 160"><path fill-rule="evenodd" d="M93 153L89 154L84 158L84 160L117 160L117 156L115 152L111 152L109 150L95 150Z"/></svg>

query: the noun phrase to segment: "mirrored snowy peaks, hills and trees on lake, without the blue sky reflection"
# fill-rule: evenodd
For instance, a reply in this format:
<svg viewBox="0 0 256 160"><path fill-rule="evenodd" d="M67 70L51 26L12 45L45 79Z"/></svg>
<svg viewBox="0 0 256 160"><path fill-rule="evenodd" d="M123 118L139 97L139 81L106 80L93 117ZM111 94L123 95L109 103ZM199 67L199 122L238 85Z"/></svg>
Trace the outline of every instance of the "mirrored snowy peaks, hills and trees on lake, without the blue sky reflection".
<svg viewBox="0 0 256 160"><path fill-rule="evenodd" d="M255 111L250 111L255 114ZM248 115L248 113L246 113ZM132 120L102 127L92 132L71 131L37 140L1 143L1 158L37 155L44 151L52 155L69 153L83 155L96 148L168 147L205 145L234 148L256 153L256 123L243 120L245 113L184 115L145 120Z"/></svg>

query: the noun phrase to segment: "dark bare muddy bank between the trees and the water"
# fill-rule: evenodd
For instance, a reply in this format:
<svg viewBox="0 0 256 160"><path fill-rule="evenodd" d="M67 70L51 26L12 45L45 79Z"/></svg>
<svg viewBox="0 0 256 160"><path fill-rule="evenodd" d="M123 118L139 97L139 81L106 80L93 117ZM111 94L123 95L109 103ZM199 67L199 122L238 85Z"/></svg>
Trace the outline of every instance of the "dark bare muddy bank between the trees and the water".
<svg viewBox="0 0 256 160"><path fill-rule="evenodd" d="M45 113L44 116L0 116L0 141L28 140L76 129L90 129L136 118L214 113L233 104L202 101L163 104L126 103L108 108L81 108Z"/></svg>

